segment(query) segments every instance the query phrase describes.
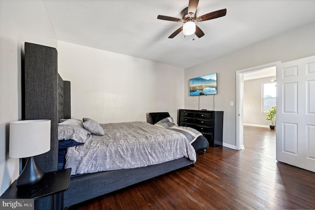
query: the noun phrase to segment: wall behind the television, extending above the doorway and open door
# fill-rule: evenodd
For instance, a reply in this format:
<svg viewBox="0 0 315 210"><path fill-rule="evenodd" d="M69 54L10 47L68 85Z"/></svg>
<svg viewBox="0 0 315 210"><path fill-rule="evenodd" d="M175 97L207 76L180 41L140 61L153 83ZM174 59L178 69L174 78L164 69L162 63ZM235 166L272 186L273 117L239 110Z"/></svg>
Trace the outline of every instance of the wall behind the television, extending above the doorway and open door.
<svg viewBox="0 0 315 210"><path fill-rule="evenodd" d="M198 97L189 97L189 79L218 72L215 110L224 111L223 144L236 146L235 71L315 55L315 22L274 36L228 55L185 69L185 108L197 109ZM246 38L246 37L244 37ZM212 110L212 96L200 97L200 108Z"/></svg>

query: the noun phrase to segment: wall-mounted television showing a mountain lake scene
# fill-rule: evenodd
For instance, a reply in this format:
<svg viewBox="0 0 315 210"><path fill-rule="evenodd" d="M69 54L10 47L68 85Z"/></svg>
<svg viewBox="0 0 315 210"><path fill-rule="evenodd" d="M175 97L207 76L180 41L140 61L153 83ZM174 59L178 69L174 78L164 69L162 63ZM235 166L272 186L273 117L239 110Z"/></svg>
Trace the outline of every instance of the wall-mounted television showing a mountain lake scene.
<svg viewBox="0 0 315 210"><path fill-rule="evenodd" d="M217 73L189 79L190 96L204 96L217 93Z"/></svg>

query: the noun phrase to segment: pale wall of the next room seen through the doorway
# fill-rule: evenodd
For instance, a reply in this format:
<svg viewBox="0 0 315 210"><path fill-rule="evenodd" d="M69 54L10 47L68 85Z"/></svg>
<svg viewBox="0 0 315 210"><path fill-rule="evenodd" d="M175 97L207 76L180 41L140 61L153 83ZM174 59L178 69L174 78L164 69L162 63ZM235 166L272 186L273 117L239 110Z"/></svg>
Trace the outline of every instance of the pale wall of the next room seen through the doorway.
<svg viewBox="0 0 315 210"><path fill-rule="evenodd" d="M262 83L271 82L272 79L276 80L276 76L244 81L244 124L269 128L270 121L266 120L266 113L261 112L261 88Z"/></svg>

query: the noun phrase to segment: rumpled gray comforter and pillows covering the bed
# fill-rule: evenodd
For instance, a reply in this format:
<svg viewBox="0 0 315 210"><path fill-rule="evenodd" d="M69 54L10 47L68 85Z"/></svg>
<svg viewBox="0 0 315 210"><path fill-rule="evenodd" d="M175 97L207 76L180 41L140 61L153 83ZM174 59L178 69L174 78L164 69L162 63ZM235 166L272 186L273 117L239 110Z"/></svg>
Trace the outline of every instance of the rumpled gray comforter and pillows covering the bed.
<svg viewBox="0 0 315 210"><path fill-rule="evenodd" d="M167 124L162 121L156 125L67 119L59 124L59 144L70 141L76 145L70 144L65 158L59 159L65 160L64 168L71 168L71 175L147 167L182 157L196 162L191 143L201 135L198 131L192 133L184 127L177 132L174 129L179 126L164 127Z"/></svg>

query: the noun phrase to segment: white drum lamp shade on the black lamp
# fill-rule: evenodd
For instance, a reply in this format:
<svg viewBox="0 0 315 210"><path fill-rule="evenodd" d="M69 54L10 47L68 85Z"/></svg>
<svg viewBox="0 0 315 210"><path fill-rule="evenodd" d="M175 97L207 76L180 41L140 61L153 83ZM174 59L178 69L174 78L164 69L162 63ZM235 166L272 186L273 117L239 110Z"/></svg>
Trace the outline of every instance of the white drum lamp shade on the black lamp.
<svg viewBox="0 0 315 210"><path fill-rule="evenodd" d="M9 156L26 158L50 150L50 120L10 122Z"/></svg>

